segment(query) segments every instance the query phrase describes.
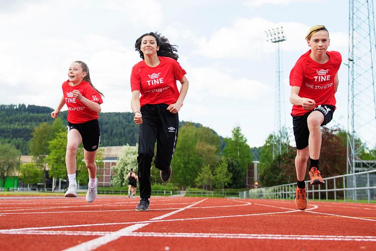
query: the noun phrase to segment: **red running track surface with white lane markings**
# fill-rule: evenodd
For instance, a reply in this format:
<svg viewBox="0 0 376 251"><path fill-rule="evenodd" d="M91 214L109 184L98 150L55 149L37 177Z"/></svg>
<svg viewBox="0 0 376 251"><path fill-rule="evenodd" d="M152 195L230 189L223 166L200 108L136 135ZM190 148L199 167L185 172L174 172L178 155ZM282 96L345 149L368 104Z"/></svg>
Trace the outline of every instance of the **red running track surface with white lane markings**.
<svg viewBox="0 0 376 251"><path fill-rule="evenodd" d="M0 250L376 250L376 205L292 200L0 197Z"/></svg>

